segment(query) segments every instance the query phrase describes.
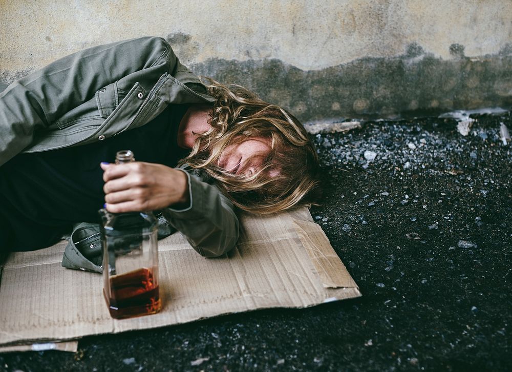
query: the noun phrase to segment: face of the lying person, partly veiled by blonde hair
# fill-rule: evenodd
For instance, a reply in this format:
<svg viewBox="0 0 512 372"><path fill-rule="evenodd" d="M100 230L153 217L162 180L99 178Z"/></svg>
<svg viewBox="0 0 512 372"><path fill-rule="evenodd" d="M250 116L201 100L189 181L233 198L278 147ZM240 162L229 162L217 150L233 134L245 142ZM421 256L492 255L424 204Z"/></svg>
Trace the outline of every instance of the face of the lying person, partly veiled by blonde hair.
<svg viewBox="0 0 512 372"><path fill-rule="evenodd" d="M248 176L260 170L272 148L269 138L248 139L240 144L231 144L221 153L219 167L233 174L246 173ZM277 171L270 171L276 176Z"/></svg>

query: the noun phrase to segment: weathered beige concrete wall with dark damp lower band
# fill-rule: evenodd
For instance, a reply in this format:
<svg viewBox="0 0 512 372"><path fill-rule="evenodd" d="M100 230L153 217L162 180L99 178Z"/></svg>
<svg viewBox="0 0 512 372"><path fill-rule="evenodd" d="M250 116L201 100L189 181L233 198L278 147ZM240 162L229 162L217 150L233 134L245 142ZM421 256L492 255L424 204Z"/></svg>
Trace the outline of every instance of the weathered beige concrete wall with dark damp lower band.
<svg viewBox="0 0 512 372"><path fill-rule="evenodd" d="M512 106L511 0L0 0L0 80L159 35L305 121Z"/></svg>

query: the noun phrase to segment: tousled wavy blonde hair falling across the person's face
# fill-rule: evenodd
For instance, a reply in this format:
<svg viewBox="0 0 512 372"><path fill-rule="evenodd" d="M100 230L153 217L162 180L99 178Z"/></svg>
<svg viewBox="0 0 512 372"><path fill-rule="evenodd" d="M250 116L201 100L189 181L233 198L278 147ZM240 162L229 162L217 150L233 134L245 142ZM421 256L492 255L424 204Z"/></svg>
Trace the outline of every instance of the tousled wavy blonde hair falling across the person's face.
<svg viewBox="0 0 512 372"><path fill-rule="evenodd" d="M192 151L181 163L215 179L234 205L251 213L270 214L316 204L318 158L302 124L241 86L208 81L208 94L215 98L208 121L211 128L197 135ZM272 148L257 172L232 174L217 165L227 146L256 137L269 139ZM278 171L270 172L272 169Z"/></svg>

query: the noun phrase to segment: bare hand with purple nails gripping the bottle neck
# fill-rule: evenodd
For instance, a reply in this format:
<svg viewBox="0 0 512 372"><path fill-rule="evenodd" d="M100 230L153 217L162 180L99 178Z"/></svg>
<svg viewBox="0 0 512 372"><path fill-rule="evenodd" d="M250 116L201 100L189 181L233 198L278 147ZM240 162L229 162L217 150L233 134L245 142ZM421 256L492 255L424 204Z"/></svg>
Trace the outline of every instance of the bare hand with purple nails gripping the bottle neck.
<svg viewBox="0 0 512 372"><path fill-rule="evenodd" d="M134 161L101 163L105 208L112 213L154 211L190 203L183 171L162 164Z"/></svg>

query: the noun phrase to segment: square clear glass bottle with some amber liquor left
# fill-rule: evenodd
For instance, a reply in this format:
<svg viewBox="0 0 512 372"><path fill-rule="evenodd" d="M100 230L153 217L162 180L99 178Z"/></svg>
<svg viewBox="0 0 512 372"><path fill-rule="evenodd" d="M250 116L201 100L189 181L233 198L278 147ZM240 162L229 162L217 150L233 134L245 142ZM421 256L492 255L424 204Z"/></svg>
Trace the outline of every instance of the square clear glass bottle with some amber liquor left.
<svg viewBox="0 0 512 372"><path fill-rule="evenodd" d="M116 164L135 161L132 151L116 154ZM110 213L100 209L103 295L116 319L158 313L158 220L152 212Z"/></svg>

